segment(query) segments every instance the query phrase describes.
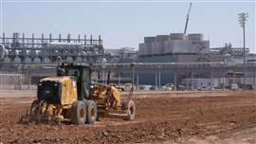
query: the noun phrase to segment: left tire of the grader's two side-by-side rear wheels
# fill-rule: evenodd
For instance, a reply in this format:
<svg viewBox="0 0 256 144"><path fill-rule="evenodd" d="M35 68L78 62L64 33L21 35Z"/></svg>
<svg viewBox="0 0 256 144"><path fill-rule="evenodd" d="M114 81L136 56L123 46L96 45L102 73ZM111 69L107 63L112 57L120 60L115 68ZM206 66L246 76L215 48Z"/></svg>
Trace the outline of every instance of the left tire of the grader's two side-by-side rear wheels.
<svg viewBox="0 0 256 144"><path fill-rule="evenodd" d="M72 104L70 118L73 124L84 124L86 119L86 107L83 101L78 100Z"/></svg>

